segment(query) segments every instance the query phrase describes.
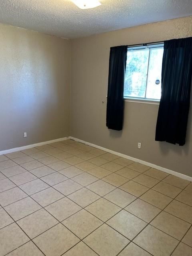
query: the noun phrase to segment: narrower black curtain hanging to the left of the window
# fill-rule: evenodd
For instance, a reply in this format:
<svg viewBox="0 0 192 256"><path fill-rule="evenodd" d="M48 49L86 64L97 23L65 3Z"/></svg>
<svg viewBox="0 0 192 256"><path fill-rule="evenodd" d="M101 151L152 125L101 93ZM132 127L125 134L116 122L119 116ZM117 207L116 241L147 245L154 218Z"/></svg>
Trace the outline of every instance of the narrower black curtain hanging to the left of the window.
<svg viewBox="0 0 192 256"><path fill-rule="evenodd" d="M118 131L123 125L126 60L127 46L110 48L106 126Z"/></svg>

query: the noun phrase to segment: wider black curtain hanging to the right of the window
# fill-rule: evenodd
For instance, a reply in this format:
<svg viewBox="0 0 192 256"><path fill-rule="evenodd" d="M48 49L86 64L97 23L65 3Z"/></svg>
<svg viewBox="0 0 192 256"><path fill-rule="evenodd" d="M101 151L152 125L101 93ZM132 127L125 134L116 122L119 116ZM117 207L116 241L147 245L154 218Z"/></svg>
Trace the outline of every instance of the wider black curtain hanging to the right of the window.
<svg viewBox="0 0 192 256"><path fill-rule="evenodd" d="M192 37L164 42L157 141L185 144L192 78Z"/></svg>

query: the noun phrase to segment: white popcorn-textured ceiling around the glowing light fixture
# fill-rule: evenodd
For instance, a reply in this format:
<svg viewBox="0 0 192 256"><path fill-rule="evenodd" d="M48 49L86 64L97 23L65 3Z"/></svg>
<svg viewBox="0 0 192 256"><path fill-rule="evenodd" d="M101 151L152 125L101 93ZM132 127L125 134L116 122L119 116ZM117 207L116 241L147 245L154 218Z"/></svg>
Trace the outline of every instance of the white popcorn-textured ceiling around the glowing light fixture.
<svg viewBox="0 0 192 256"><path fill-rule="evenodd" d="M70 0L0 0L0 23L79 38L192 15L192 0L100 0L81 10Z"/></svg>

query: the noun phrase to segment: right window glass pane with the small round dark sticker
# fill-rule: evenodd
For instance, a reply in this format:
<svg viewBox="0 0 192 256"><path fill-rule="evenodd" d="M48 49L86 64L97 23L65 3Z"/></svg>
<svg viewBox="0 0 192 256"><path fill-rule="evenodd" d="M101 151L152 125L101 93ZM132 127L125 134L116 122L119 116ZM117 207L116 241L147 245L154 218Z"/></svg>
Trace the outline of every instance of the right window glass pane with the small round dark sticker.
<svg viewBox="0 0 192 256"><path fill-rule="evenodd" d="M162 48L151 48L149 55L149 67L147 78L146 98L161 98L161 70L162 70Z"/></svg>

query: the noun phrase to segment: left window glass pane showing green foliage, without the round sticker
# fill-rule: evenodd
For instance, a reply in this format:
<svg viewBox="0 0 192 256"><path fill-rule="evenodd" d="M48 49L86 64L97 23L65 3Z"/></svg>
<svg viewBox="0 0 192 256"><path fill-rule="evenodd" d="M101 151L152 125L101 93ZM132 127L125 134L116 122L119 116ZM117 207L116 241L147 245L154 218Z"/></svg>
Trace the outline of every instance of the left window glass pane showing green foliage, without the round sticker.
<svg viewBox="0 0 192 256"><path fill-rule="evenodd" d="M140 50L128 50L124 97L145 97L148 58L148 48Z"/></svg>

